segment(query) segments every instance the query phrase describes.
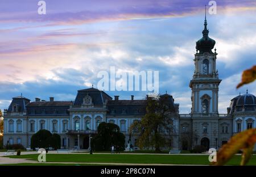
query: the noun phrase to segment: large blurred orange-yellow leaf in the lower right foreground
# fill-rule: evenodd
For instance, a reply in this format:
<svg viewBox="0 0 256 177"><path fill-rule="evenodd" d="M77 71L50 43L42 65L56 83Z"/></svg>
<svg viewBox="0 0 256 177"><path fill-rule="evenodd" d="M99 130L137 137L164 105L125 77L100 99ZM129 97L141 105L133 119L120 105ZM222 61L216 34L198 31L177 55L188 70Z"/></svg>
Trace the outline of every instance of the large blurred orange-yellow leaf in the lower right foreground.
<svg viewBox="0 0 256 177"><path fill-rule="evenodd" d="M245 130L230 138L227 144L223 145L217 153L217 162L214 165L224 165L236 154L239 150L245 149L243 162L249 161L247 159L250 154L249 148L256 142L256 128Z"/></svg>

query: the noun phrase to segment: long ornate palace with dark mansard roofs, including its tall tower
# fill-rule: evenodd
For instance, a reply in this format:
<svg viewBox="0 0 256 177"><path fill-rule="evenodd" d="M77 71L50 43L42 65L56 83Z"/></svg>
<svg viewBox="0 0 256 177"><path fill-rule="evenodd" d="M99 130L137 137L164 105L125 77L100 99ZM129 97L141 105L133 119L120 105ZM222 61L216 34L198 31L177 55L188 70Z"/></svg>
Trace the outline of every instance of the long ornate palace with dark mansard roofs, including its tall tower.
<svg viewBox="0 0 256 177"><path fill-rule="evenodd" d="M212 51L215 41L208 36L205 18L203 37L196 42L195 71L189 83L191 87L191 113L180 114L179 104L167 93L161 95L174 107L170 115L174 130L170 144L163 149L189 150L196 145L207 149L218 149L234 134L256 127L256 97L246 92L231 99L225 114L218 112L218 78L216 69L217 53ZM4 111L3 144L22 144L30 147L32 134L47 129L60 134L61 148L88 149L90 137L97 133L102 121L117 124L129 140L129 127L133 121L140 120L145 114L146 101L112 98L97 88L77 91L74 101L48 101L35 98L31 101L24 96L13 98ZM138 149L136 137L131 144ZM256 148L255 148L256 149Z"/></svg>

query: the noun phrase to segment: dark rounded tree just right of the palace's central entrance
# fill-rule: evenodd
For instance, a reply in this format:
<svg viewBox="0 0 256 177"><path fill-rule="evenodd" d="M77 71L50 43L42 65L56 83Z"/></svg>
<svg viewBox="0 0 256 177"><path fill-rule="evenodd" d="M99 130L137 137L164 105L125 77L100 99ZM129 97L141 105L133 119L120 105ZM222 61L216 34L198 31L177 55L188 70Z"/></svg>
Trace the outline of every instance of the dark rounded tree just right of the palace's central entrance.
<svg viewBox="0 0 256 177"><path fill-rule="evenodd" d="M120 132L118 125L102 122L98 125L98 134L92 138L94 150L110 150L112 146L125 149L125 135Z"/></svg>

